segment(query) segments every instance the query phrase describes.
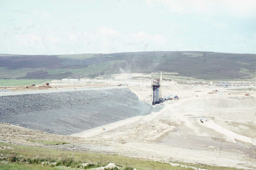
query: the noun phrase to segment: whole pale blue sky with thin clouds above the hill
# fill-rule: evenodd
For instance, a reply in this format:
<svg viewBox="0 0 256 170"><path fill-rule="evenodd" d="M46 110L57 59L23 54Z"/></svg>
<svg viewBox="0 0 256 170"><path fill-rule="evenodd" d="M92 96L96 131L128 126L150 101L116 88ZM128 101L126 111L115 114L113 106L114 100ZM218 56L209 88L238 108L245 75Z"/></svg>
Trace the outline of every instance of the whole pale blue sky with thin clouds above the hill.
<svg viewBox="0 0 256 170"><path fill-rule="evenodd" d="M256 0L0 0L0 53L256 53Z"/></svg>

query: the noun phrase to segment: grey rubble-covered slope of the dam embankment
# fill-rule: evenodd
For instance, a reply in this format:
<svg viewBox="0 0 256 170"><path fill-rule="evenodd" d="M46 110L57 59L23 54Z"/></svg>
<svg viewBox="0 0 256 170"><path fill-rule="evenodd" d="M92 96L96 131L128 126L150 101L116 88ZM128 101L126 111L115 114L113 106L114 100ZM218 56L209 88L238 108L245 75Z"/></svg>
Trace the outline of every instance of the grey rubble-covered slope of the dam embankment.
<svg viewBox="0 0 256 170"><path fill-rule="evenodd" d="M128 88L0 96L0 103L0 122L60 135L152 111Z"/></svg>

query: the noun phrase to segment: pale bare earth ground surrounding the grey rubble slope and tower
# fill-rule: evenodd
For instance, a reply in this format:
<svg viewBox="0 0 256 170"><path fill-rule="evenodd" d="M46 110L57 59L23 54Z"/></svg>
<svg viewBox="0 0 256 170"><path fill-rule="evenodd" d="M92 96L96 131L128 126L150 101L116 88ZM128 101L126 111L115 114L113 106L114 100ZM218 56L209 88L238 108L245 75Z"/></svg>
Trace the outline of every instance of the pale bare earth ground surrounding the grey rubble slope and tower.
<svg viewBox="0 0 256 170"><path fill-rule="evenodd" d="M150 102L151 83L147 76L118 74L113 75L111 80L85 79L83 82L125 84L140 100ZM139 78L130 79L132 77ZM51 84L64 87L70 82L56 81ZM150 160L256 168L255 84L224 88L164 81L162 90L163 96L175 94L180 99L162 103L163 109L158 112L124 119L71 136L0 124L0 140L18 145L113 153ZM208 94L212 90L218 90L218 93ZM246 93L250 96L245 96ZM200 122L200 117L207 121ZM29 141L31 139L66 141L70 144L44 145Z"/></svg>

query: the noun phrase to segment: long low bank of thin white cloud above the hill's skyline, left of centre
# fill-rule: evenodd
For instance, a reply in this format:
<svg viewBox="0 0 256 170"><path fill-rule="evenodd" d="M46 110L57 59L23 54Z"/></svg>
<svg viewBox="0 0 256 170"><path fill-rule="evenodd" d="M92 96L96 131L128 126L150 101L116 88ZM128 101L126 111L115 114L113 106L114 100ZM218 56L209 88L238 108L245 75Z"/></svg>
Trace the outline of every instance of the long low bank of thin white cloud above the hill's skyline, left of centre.
<svg viewBox="0 0 256 170"><path fill-rule="evenodd" d="M91 31L82 32L70 31L64 34L48 29L46 33L41 34L16 35L14 46L19 48L12 53L78 54L159 51L165 45L167 46L167 40L166 37L160 34L150 35L144 31L125 34L108 27L98 27ZM8 49L10 51L14 50Z"/></svg>

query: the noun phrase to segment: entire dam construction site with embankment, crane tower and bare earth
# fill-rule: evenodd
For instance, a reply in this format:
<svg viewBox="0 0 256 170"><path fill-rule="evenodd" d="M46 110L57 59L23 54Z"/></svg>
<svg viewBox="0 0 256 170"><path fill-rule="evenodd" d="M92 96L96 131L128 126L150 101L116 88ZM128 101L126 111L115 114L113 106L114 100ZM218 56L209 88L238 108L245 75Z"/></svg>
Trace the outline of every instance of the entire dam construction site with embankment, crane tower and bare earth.
<svg viewBox="0 0 256 170"><path fill-rule="evenodd" d="M256 85L181 83L166 78L168 74L178 73L113 74L108 79L1 87L0 140L255 169ZM60 139L68 144L33 142Z"/></svg>

